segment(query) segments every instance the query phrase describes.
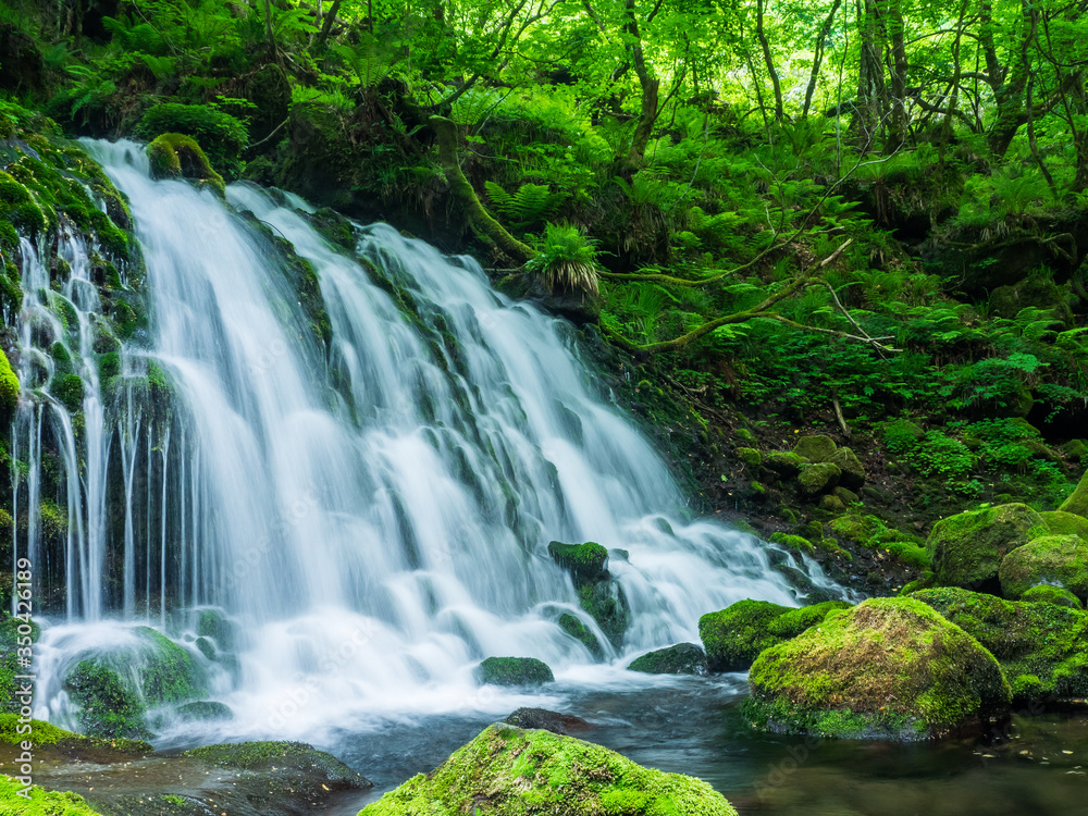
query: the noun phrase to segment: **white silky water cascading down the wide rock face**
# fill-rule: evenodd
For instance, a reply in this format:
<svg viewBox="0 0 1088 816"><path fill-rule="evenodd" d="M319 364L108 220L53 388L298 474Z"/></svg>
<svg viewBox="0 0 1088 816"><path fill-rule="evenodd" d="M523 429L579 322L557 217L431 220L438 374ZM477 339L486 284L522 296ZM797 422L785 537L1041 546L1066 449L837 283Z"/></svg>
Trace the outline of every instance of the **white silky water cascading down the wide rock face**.
<svg viewBox="0 0 1088 816"><path fill-rule="evenodd" d="M15 431L30 461L18 490L36 490L45 425L65 452L64 559L50 574L67 605L38 644L39 715L74 725L65 675L147 622L190 651L209 696L233 709L203 726L221 737L313 741L351 719L504 710L509 696L480 695L472 679L489 655L540 657L560 684L615 680L626 659L580 610L551 540L614 548L628 655L695 640L700 615L742 597L794 603L755 540L684 519L662 459L594 396L569 325L495 294L471 260L385 225L358 228L348 257L295 197L236 185L227 207L151 181L136 145L88 149L131 200L151 327L103 395L95 287L78 271L87 248L65 250L73 332L40 300L57 293L24 247L23 382L57 382L30 376L49 360L35 349L77 337L65 342L85 383L83 465L60 398L25 400ZM311 264L327 347L324 314L299 302L308 270L269 230ZM170 411L147 399L166 391L160 369ZM23 504L41 555L41 498ZM208 608L233 622L231 660L195 640ZM562 613L614 666L586 668Z"/></svg>

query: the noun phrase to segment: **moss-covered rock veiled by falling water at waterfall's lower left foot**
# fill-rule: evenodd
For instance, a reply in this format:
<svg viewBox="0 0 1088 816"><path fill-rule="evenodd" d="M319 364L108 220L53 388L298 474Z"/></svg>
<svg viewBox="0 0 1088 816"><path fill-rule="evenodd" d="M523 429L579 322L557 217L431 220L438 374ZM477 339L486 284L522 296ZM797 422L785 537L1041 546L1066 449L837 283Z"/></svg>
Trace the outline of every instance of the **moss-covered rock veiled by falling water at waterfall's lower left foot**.
<svg viewBox="0 0 1088 816"><path fill-rule="evenodd" d="M147 739L149 709L205 695L203 672L186 650L150 627L127 635L87 653L65 675L85 733Z"/></svg>

